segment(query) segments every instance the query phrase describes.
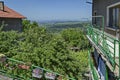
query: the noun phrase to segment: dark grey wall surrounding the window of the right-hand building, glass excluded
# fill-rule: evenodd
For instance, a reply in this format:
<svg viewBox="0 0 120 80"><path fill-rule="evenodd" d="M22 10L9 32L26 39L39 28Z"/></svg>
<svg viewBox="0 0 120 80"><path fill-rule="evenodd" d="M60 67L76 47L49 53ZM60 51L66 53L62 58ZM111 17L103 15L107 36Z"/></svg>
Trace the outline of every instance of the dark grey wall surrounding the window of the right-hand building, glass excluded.
<svg viewBox="0 0 120 80"><path fill-rule="evenodd" d="M109 16L107 15L107 7L110 6L110 5L113 5L113 4L116 4L120 2L120 0L93 0L93 10L92 10L92 16L96 16L96 15L102 15L104 16L105 18L105 31L113 36L116 36L117 34L120 35L120 31L118 31L116 33L116 30L113 29L110 24L113 23L113 21L110 21L110 18L108 18ZM95 15L95 12L96 12L96 15ZM112 13L112 12L111 12ZM109 14L111 14L109 13ZM108 20L107 20L108 19ZM93 19L93 23L95 21L95 18ZM98 19L96 18L96 21L98 21L98 25L100 25L101 27L101 23L102 23L102 20L101 19ZM109 28L108 28L109 27ZM116 36L118 38L118 36Z"/></svg>

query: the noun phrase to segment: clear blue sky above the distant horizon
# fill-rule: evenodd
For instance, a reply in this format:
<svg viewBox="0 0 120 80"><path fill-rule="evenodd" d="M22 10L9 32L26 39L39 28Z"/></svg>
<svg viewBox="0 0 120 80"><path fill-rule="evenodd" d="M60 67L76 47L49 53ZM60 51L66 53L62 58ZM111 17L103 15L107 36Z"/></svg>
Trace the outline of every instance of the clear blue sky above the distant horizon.
<svg viewBox="0 0 120 80"><path fill-rule="evenodd" d="M29 20L81 20L89 18L92 5L86 0L2 0Z"/></svg>

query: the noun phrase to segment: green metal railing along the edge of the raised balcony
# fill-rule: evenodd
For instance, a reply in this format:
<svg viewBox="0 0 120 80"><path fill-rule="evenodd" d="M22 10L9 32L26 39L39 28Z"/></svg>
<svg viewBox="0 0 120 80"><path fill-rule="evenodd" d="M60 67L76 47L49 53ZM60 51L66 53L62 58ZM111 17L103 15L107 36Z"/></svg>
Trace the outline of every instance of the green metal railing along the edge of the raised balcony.
<svg viewBox="0 0 120 80"><path fill-rule="evenodd" d="M113 70L115 70L116 65L119 67L120 76L120 41L94 28L92 25L87 28L87 35L111 63ZM119 59L118 63L116 62L116 57Z"/></svg>

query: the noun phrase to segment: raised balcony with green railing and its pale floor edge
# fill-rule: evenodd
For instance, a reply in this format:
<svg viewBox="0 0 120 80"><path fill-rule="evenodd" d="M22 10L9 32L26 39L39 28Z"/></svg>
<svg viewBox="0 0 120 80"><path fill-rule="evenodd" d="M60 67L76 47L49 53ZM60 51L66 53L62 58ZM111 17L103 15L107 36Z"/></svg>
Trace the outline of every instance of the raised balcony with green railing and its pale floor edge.
<svg viewBox="0 0 120 80"><path fill-rule="evenodd" d="M92 25L87 28L87 37L102 55L110 70L120 78L120 41Z"/></svg>

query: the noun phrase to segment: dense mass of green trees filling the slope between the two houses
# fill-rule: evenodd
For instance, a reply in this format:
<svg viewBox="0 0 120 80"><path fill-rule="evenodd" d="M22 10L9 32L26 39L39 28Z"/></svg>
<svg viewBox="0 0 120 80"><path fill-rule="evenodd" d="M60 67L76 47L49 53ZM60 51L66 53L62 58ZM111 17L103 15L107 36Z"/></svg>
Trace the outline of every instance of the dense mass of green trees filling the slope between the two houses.
<svg viewBox="0 0 120 80"><path fill-rule="evenodd" d="M71 28L52 33L58 26ZM50 31L50 27L42 27L36 22L24 20L23 32L5 32L1 28L0 53L82 80L88 69L89 44L79 26L83 24L57 24Z"/></svg>

